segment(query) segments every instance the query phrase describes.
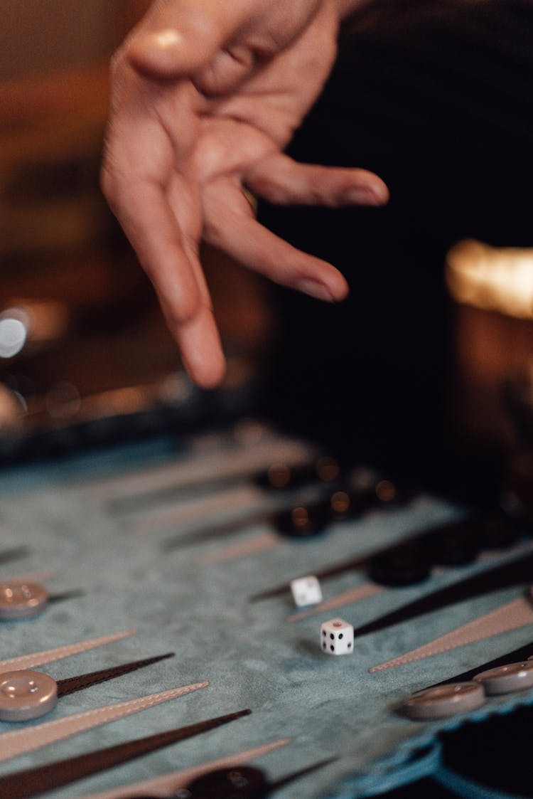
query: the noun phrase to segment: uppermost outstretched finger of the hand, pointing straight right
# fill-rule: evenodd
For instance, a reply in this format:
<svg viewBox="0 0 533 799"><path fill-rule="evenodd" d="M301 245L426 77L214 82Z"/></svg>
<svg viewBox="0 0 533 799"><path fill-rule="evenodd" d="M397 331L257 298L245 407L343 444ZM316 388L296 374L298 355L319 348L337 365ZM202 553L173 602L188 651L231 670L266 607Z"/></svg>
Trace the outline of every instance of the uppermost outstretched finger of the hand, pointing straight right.
<svg viewBox="0 0 533 799"><path fill-rule="evenodd" d="M384 205L389 190L366 169L299 164L274 154L247 172L245 181L266 200L283 205Z"/></svg>

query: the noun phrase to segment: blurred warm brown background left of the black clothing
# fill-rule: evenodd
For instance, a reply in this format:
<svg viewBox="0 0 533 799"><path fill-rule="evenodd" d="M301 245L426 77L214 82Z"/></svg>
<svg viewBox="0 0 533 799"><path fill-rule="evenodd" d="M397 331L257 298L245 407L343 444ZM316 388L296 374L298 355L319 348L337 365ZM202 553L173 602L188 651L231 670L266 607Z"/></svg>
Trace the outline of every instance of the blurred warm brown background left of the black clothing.
<svg viewBox="0 0 533 799"><path fill-rule="evenodd" d="M132 416L131 429L115 430L124 437L142 432L144 409L201 404L99 189L109 58L148 5L0 2L4 459L69 449L80 431L67 428L84 420L87 444L113 437L109 415ZM269 324L262 289L222 256L205 252L204 263L228 352L239 353L228 380L244 382ZM148 431L167 423L144 418Z"/></svg>

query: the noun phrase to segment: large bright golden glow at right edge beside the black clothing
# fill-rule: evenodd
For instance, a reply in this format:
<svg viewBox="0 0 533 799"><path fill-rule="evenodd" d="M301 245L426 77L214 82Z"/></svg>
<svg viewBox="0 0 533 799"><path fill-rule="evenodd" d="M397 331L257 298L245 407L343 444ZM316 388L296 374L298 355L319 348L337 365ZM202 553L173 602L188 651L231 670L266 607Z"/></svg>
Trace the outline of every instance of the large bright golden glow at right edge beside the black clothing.
<svg viewBox="0 0 533 799"><path fill-rule="evenodd" d="M533 319L533 249L460 241L448 252L446 280L460 303Z"/></svg>

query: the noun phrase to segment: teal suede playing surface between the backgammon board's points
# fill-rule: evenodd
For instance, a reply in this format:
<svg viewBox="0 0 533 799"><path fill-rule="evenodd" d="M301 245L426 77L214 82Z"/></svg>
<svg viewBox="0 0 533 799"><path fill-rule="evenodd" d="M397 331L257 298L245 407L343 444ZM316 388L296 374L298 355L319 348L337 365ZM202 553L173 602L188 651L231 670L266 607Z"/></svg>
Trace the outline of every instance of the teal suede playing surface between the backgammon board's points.
<svg viewBox="0 0 533 799"><path fill-rule="evenodd" d="M161 525L157 514L172 510L179 519L184 503L195 503L195 497L198 503L205 501L197 489L191 487L186 495L182 492L179 500L165 495L155 505L130 514L111 515L108 505L110 491L113 495L110 481L116 475L135 474L140 469L149 474L160 463L172 468L172 463L187 463L188 457L186 450L175 451L156 442L152 449L124 448L101 456L93 453L6 472L0 489L0 550L25 543L31 552L23 561L0 566L0 580L50 569L54 574L45 584L52 593L76 588L85 593L50 606L41 617L0 622L0 658L132 627L137 632L131 638L51 663L42 670L60 679L169 650L176 653L170 660L62 698L46 719L191 682L209 680L210 686L2 763L0 774L251 708L251 716L231 725L89 777L52 795L57 799L81 797L288 736L289 745L255 763L265 769L271 780L327 757L337 759L276 792L279 799L369 796L380 785L387 785L388 775L405 765L413 749L434 740L439 729L460 722L409 721L394 712L402 698L531 639L533 630L525 627L409 666L379 674L368 671L370 666L515 598L520 593L517 588L462 602L422 616L417 622L365 636L356 640L353 655L322 654L319 628L327 618L338 615L359 625L400 602L418 597L422 590L453 582L463 574L480 570L484 564L450 569L433 576L424 586L385 590L294 623L286 621L294 612L288 595L251 604L251 594L372 551L428 525L452 520L463 509L436 497L418 496L405 507L373 511L357 521L332 525L326 535L306 543L280 539L278 545L255 555L200 565L199 559L207 553L214 554L228 543L253 539L266 527L256 523L227 535L223 541L166 552L162 545L180 531L180 525L177 521ZM233 489L246 489L248 483L243 477ZM219 489L214 485L209 497L216 498L218 491L223 499L228 490L227 485ZM138 524L140 516L142 526ZM213 523L216 519L217 515L211 517ZM364 582L362 573L330 579L322 586L324 598ZM493 711L503 712L516 702L531 698L531 692L491 698L471 716L482 718ZM8 729L13 726L0 722L0 746L1 734Z"/></svg>

